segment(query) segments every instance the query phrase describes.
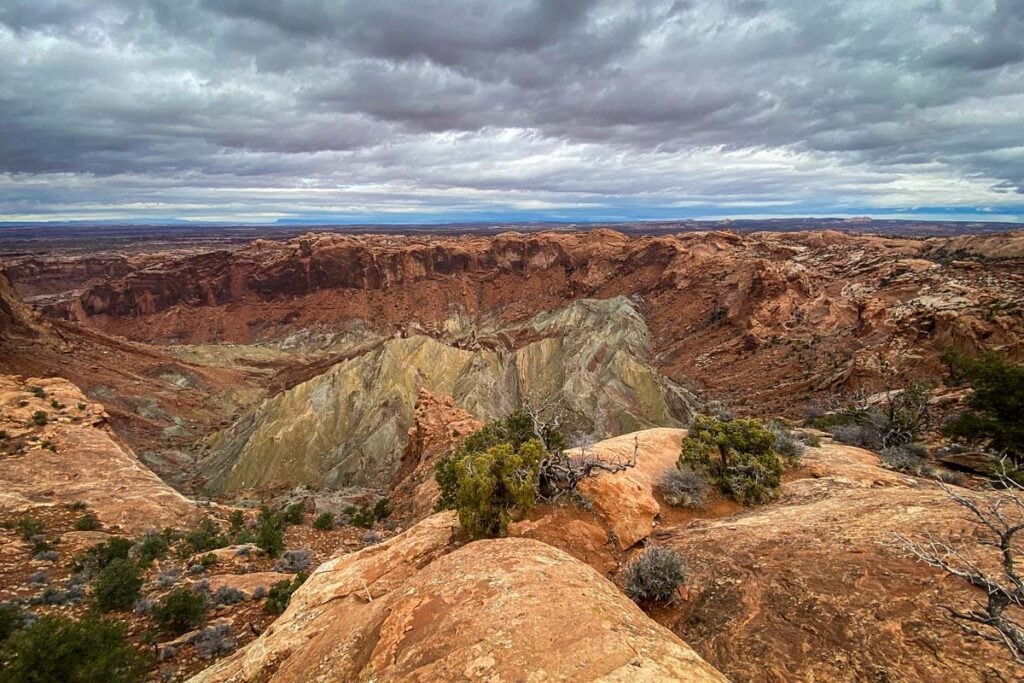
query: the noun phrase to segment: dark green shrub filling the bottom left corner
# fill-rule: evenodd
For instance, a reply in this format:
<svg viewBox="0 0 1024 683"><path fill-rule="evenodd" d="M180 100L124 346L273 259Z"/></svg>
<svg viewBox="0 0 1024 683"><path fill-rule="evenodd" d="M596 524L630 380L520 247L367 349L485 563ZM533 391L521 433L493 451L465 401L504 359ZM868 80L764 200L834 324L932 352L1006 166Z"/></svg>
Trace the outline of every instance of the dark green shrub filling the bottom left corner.
<svg viewBox="0 0 1024 683"><path fill-rule="evenodd" d="M126 627L87 613L73 622L42 616L0 645L0 683L134 683L147 657L125 639Z"/></svg>

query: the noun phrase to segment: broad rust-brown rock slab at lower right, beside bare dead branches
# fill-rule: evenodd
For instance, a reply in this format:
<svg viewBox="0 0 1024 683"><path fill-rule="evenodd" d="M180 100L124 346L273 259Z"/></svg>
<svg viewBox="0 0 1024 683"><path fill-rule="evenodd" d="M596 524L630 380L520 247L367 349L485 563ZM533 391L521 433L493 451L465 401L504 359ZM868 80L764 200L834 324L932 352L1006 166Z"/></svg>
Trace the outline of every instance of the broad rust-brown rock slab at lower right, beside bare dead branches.
<svg viewBox="0 0 1024 683"><path fill-rule="evenodd" d="M907 557L894 533L970 539L938 487L860 449L806 456L812 478L764 508L660 531L685 558L685 599L656 613L734 681L1017 680L1007 653L940 605L983 596Z"/></svg>

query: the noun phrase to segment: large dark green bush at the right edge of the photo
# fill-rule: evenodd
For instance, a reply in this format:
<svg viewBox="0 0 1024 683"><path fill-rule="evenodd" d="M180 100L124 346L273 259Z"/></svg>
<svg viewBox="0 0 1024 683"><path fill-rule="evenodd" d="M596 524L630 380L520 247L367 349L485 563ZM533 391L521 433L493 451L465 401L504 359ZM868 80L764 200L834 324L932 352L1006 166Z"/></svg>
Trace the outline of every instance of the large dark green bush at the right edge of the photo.
<svg viewBox="0 0 1024 683"><path fill-rule="evenodd" d="M982 443L997 456L1024 467L1024 364L997 353L969 357L943 354L954 381L968 381L972 392L966 412L944 427L947 435Z"/></svg>

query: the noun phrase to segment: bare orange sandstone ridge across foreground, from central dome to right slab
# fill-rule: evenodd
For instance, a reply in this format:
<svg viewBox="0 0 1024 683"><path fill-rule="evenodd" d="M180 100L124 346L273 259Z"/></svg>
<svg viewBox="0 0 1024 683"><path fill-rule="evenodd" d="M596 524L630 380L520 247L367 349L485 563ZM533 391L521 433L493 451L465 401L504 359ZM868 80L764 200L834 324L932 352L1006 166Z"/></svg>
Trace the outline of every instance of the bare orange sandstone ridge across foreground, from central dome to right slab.
<svg viewBox="0 0 1024 683"><path fill-rule="evenodd" d="M457 442L452 425L472 424L428 394L418 415L432 444L427 460ZM941 604L970 604L976 589L894 542L894 531L969 538L963 511L933 482L825 442L786 475L778 502L713 501L692 516L657 490L684 434L643 430L589 446L612 460L636 447L638 465L628 480L588 482L589 507L538 506L512 538L463 547L453 514L440 513L329 561L263 636L196 680L505 680L517 671L543 680L718 680L688 648L676 649L683 641L736 681L1014 679L1000 648L942 618ZM409 457L404 469L422 469ZM676 604L650 610L678 640L663 640L600 578L617 580L645 544L683 556Z"/></svg>

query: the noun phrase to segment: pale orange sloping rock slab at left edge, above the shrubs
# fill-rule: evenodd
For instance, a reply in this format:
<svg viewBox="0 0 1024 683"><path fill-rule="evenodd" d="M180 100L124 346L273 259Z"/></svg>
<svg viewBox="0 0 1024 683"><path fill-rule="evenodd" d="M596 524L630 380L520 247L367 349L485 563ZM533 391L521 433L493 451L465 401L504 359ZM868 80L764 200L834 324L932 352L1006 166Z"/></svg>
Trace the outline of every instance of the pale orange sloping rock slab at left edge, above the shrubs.
<svg viewBox="0 0 1024 683"><path fill-rule="evenodd" d="M35 422L37 414L44 424ZM0 510L81 501L104 527L128 535L187 524L195 503L146 469L105 422L102 405L67 380L0 375L0 429L7 435L0 453L8 451L0 455ZM3 449L13 442L25 452Z"/></svg>

